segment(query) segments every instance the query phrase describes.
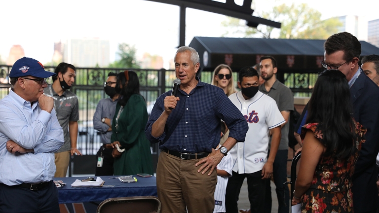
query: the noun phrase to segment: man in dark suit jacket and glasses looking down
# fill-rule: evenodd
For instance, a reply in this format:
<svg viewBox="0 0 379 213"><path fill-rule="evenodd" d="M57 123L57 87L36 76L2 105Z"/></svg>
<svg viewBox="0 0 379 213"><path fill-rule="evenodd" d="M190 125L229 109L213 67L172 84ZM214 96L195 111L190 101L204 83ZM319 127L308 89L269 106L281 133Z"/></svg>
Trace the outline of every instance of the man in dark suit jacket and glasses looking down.
<svg viewBox="0 0 379 213"><path fill-rule="evenodd" d="M355 213L376 213L379 152L379 87L359 67L361 43L346 32L330 36L324 43L326 69L336 69L349 82L354 118L367 128L366 142L355 165L353 175L353 205Z"/></svg>

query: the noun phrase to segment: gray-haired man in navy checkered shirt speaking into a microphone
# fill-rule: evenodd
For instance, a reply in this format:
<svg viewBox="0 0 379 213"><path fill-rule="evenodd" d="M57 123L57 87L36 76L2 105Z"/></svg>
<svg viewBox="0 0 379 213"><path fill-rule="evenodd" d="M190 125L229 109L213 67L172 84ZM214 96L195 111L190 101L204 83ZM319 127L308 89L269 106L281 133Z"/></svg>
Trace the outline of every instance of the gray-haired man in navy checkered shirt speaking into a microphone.
<svg viewBox="0 0 379 213"><path fill-rule="evenodd" d="M216 166L236 142L244 142L248 125L224 91L196 77L199 55L191 47L175 54L181 84L177 97L158 97L146 125L150 142L159 142L156 182L162 213L211 213L215 207ZM221 120L229 138L218 150Z"/></svg>

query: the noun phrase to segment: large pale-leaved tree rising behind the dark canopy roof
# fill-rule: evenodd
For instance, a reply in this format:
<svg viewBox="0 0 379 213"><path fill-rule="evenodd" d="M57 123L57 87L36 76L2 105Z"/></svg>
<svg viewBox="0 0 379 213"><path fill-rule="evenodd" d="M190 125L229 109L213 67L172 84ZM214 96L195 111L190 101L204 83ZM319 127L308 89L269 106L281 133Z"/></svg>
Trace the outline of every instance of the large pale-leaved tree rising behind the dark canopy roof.
<svg viewBox="0 0 379 213"><path fill-rule="evenodd" d="M321 20L321 13L306 3L293 3L289 6L280 4L258 16L282 23L279 38L287 39L326 39L338 33L338 27L342 26L338 18ZM270 38L274 29L265 25L251 28L245 25L244 20L231 17L228 17L222 26L228 29L223 36L239 34L244 37Z"/></svg>

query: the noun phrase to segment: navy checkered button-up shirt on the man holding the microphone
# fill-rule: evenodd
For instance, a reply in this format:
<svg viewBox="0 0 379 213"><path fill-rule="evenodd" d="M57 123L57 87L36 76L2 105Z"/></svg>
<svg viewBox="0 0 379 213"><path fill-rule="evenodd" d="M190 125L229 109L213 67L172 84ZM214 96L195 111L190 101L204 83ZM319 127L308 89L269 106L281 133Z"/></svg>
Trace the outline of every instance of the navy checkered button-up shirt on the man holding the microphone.
<svg viewBox="0 0 379 213"><path fill-rule="evenodd" d="M229 137L237 142L245 141L248 126L242 113L230 102L224 91L216 86L201 82L196 77L196 87L187 94L179 89L175 109L168 116L163 134L154 138L152 124L164 111L164 98L168 91L155 102L145 128L148 140L159 142L159 149L178 152L211 152L220 143L221 119L230 129Z"/></svg>

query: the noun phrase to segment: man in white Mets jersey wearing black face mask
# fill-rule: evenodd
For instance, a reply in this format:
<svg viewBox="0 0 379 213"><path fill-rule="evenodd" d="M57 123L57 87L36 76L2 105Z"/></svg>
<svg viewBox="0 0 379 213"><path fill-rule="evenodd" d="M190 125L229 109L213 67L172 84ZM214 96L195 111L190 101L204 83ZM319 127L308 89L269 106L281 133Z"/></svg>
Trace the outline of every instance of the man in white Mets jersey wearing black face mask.
<svg viewBox="0 0 379 213"><path fill-rule="evenodd" d="M249 130L245 142L229 151L233 157L232 177L227 182L227 213L238 213L237 201L242 183L247 178L251 213L263 213L265 181L271 178L275 155L279 147L280 126L285 123L275 100L259 91L259 75L254 68L245 67L238 73L240 92L229 96L244 115ZM270 131L271 150L267 156Z"/></svg>

